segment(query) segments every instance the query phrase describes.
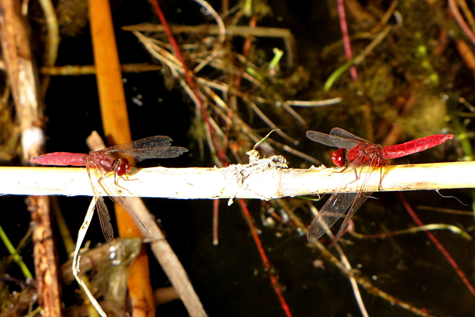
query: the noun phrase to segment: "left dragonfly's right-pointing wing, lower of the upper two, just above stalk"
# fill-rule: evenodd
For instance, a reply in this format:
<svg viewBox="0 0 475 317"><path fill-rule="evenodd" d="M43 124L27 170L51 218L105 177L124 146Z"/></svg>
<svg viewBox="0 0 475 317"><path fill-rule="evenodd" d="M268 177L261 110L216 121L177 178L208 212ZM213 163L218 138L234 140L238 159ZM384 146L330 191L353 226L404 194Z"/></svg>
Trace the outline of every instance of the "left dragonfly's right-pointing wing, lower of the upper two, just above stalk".
<svg viewBox="0 0 475 317"><path fill-rule="evenodd" d="M122 149L107 151L114 157L126 157L130 158L130 163L140 162L149 158L169 158L177 157L181 154L188 152L188 149L181 146L168 146L168 147L152 147L143 149Z"/></svg>

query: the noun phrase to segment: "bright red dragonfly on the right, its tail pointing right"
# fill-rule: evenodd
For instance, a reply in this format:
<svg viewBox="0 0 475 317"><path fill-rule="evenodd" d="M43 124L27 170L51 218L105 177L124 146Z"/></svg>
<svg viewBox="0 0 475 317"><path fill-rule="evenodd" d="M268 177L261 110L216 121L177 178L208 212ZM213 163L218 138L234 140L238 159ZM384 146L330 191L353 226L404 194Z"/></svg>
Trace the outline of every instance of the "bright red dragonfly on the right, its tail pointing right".
<svg viewBox="0 0 475 317"><path fill-rule="evenodd" d="M307 137L312 141L337 147L338 150L332 154L333 163L339 167L344 167L341 172L348 168L354 170L356 180L359 179L356 169L360 166L370 166L370 171L366 174L358 192L340 192L348 183L352 183L346 179L347 175L352 175L352 173L346 173L346 178L340 181L332 196L323 205L308 229L307 240L314 242L323 236L348 210L334 241L338 240L353 214L377 189L377 186L368 184L368 180L371 177L369 175L379 169L381 184L382 178L389 171L387 168L390 165L389 159L424 151L446 142L454 136L452 134L435 134L403 144L385 147L382 147L380 144L370 143L340 128L333 128L330 134L307 131Z"/></svg>

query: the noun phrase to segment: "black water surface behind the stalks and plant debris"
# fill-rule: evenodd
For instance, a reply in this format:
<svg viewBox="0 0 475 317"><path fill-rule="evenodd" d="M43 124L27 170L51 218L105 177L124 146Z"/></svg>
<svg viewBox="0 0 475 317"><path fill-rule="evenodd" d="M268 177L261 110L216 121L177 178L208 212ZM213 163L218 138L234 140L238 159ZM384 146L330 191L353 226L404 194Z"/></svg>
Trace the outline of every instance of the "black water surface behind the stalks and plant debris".
<svg viewBox="0 0 475 317"><path fill-rule="evenodd" d="M211 3L219 7L218 1ZM329 17L325 1L275 0L269 1L269 4L274 16L264 19L259 25L290 28L295 35L298 59L302 64L315 66L315 52L341 36L338 21ZM146 1L114 2L113 7L116 26L157 20ZM180 13L177 12L178 8L181 9ZM199 6L192 1L168 1L163 3L162 9L171 23L193 25L204 21ZM117 29L116 36L122 63L151 60L132 34ZM265 43L265 40L261 41ZM240 47L242 43L237 42L236 45ZM61 42L57 65L74 64L93 64L87 29L83 35ZM197 146L187 137L194 110L190 101L183 98L182 92L179 89L171 92L166 90L160 72L124 74L123 77L126 78L124 88L133 139L166 134L173 138L173 145L191 149L191 155L146 164L160 163L167 167L212 166L209 157L204 162L199 161ZM142 106L132 102L132 97L139 94L142 95ZM47 152L85 153L88 151L86 136L92 130L102 134L94 76L53 77L46 104L49 119L46 130ZM304 140L304 129L300 131L300 139ZM305 145L311 143L304 142L299 150L307 154L316 153L315 149L305 148ZM323 159L323 156L319 159ZM411 163L428 162L426 156L409 160ZM292 167L304 163L295 158L291 158L291 162L294 163ZM468 191L443 191L443 194L470 203ZM442 198L436 192L407 192L404 195L414 208L417 205L430 205L469 210L469 207L460 205L456 200ZM378 200L368 199L354 217L358 232L393 231L413 225L395 194L380 193L375 197ZM28 227L29 215L23 199L1 197L4 206L8 206L4 209L4 214L8 215L4 216L1 224L12 241L18 241ZM60 197L59 202L68 226L75 235L83 221L89 198ZM231 207L227 206L227 200L220 203L219 245L215 247L211 243L211 201L146 199L145 202L161 220L171 247L187 269L210 316L285 316L236 203ZM321 205L317 203L317 207ZM298 236L295 230L285 225L279 230L266 228L260 221L261 202L250 201L248 206L257 228L262 231L260 237L267 256L279 277L285 300L294 316L361 316L350 283L339 269L326 260L323 260L324 269L314 268L313 261L323 258L318 251L307 246L305 237ZM473 217L417 212L424 223L474 228ZM308 212L296 213L304 223L310 223ZM104 241L96 218L89 231L86 239L93 243ZM281 232L282 237L277 238L276 232ZM449 231L437 231L434 234L452 254L469 281L474 283L473 242ZM361 264L361 273L372 279L373 285L417 308L424 307L435 316L473 316L474 297L424 233L385 240L346 238L355 242L352 246L343 247L350 263L353 267ZM32 269L32 252L28 248L23 252L23 257ZM0 250L1 254L6 254L3 246L0 246ZM60 259L66 261L61 241L58 241L58 253ZM153 288L169 286L170 282L152 254L150 260ZM21 276L15 266L9 273ZM393 306L363 289L361 296L370 316L413 316L411 312ZM72 302L68 296L65 296L65 300L66 305ZM187 316L180 301L158 307L157 316L163 314Z"/></svg>

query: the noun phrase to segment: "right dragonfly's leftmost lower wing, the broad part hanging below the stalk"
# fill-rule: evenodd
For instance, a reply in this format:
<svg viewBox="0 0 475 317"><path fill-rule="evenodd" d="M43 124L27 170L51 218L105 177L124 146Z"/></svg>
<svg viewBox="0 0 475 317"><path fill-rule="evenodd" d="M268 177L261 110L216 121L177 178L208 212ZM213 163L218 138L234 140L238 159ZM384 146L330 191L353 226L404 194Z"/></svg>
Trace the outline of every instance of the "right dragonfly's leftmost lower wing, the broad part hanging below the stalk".
<svg viewBox="0 0 475 317"><path fill-rule="evenodd" d="M333 227L352 205L357 192L335 192L320 209L318 215L308 228L307 240L315 242Z"/></svg>

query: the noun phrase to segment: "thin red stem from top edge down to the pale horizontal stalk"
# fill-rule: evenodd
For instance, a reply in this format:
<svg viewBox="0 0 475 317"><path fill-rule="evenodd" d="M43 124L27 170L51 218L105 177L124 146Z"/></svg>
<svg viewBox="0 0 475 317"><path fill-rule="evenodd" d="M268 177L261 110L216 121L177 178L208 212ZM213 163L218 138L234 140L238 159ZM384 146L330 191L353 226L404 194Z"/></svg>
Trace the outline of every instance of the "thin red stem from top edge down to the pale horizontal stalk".
<svg viewBox="0 0 475 317"><path fill-rule="evenodd" d="M153 8L155 9L155 12L158 15L158 18L160 19L161 24L163 25L163 29L165 29L165 34L167 35L168 40L170 41L170 44L171 44L171 46L173 46L173 49L175 50L175 54L181 62L181 65L184 69L186 81L188 82L188 85L190 86L191 90L193 91L196 98L198 99L201 114L203 115L203 118L205 119L206 123L209 126L209 132L211 134L211 139L213 140L214 146L218 150L219 158L221 159L222 162L226 162L227 161L226 155L224 154L223 150L221 149L221 146L219 146L218 142L216 141L213 126L209 123L208 113L206 112L206 109L203 106L203 101L201 100L201 98L198 95L198 90L196 89L195 83L193 82L193 79L190 76L190 73L188 71L188 67L186 67L185 61L183 60L183 57L181 56L180 48L178 47L178 44L175 41L175 38L173 37L173 34L171 34L171 29L168 26L168 22L165 19L165 16L163 15L163 12L161 11L157 0L151 0L151 2L152 2L152 5L153 5Z"/></svg>

